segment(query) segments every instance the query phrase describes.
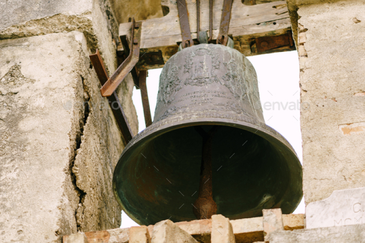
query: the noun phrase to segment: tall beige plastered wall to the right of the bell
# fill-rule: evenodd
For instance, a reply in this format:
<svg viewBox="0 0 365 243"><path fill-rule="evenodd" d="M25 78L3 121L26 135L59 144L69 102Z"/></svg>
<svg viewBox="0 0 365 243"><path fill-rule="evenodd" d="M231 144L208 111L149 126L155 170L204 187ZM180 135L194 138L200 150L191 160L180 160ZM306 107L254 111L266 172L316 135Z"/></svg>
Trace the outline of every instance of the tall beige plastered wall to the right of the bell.
<svg viewBox="0 0 365 243"><path fill-rule="evenodd" d="M365 1L297 7L308 204L365 185Z"/></svg>

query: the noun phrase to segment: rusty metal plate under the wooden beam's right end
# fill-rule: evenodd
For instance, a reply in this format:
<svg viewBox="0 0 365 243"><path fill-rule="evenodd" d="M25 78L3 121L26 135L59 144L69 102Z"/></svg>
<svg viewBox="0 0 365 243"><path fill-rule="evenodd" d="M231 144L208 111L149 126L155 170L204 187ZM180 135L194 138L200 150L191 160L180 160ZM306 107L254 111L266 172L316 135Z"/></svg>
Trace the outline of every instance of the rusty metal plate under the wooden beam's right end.
<svg viewBox="0 0 365 243"><path fill-rule="evenodd" d="M255 39L257 52L266 52L280 47L292 47L295 50L292 31L284 35L263 36Z"/></svg>

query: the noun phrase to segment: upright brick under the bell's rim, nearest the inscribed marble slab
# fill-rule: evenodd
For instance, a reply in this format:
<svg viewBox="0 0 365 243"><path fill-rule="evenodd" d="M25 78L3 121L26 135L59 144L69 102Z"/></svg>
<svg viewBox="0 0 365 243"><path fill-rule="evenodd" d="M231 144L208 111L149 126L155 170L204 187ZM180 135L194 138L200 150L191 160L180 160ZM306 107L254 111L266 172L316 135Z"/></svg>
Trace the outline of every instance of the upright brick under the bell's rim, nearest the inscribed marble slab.
<svg viewBox="0 0 365 243"><path fill-rule="evenodd" d="M274 231L284 230L281 208L263 209L264 239L268 242L269 235Z"/></svg>

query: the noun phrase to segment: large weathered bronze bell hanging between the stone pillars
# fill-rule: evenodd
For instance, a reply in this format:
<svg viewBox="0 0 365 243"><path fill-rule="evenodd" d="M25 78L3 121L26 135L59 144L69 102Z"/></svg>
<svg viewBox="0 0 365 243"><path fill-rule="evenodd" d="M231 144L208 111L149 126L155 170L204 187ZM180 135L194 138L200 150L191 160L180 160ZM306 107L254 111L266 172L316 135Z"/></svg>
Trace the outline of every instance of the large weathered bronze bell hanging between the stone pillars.
<svg viewBox="0 0 365 243"><path fill-rule="evenodd" d="M164 65L154 121L124 149L113 189L141 225L195 220L198 204L201 213L230 219L260 216L264 208L292 213L303 195L302 167L288 141L265 124L249 60L200 44Z"/></svg>

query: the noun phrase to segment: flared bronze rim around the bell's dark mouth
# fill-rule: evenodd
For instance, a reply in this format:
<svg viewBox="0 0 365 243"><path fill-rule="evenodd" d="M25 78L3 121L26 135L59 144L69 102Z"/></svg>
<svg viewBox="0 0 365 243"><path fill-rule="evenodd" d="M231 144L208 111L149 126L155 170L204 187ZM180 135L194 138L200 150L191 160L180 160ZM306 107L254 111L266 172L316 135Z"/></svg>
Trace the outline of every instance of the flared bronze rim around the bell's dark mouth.
<svg viewBox="0 0 365 243"><path fill-rule="evenodd" d="M197 114L198 117L201 114L204 114L204 113L198 113ZM199 117L199 118L197 117L197 118L191 119L192 114L189 113L190 121L183 119L181 115L171 115L170 117L165 118L161 121L152 123L150 126L146 127L146 129L144 129L143 131L138 133L136 136L133 137L132 140L130 140L128 142L128 144L126 145L125 149L123 150L123 152L122 152L121 156L119 157L118 162L114 168L113 178L112 178L112 187L113 187L114 196L115 196L118 204L122 207L122 209L125 211L125 213L132 220L134 220L139 225L144 225L141 220L138 220L137 218L135 218L133 216L133 214L129 213L125 209L122 201L120 200L120 197L118 196L118 192L116 190L116 181L115 181L116 179L115 178L116 178L116 173L118 171L117 168L122 166L121 165L122 157L125 156L128 153L128 151L130 151L130 148L133 145L135 145L136 143L140 143L145 140L152 139L152 138L150 138L150 136L153 136L153 138L156 138L167 132L171 132L173 130L176 130L176 129L179 129L182 127L194 126L194 125L198 125L198 124L199 125L224 125L224 126L236 127L236 128L243 129L245 131L253 132L257 136L260 136L263 139L268 140L267 139L268 137L261 136L261 135L267 135L267 136L269 136L269 138L273 138L276 141L280 142L280 147L290 150L290 152L296 158L296 160L291 162L292 166L289 166L289 164L288 164L288 168L290 171L294 171L295 170L294 167L297 167L296 169L300 169L300 176L295 178L295 176L293 177L292 173L290 173L291 174L290 183L289 183L288 189L286 191L290 191L289 189L292 188L292 191L296 191L296 193L299 192L298 194L300 195L300 197L298 197L298 200L296 203L294 202L293 205L295 205L295 207L292 207L293 209L289 213L292 213L292 211L294 211L295 208L297 208L297 206L301 202L301 199L303 198L303 190L302 190L303 170L302 170L302 165L299 161L299 158L298 158L295 150L292 148L292 145L288 142L288 140L285 139L279 132L274 130L271 126L269 126L261 121L258 121L255 118L241 116L240 119L239 118L237 119L237 114L228 114L228 116L227 116L227 113L224 113L224 112L219 113L219 114L214 114L214 115L217 115L217 117L209 117L207 119L207 117L204 116L204 117ZM232 115L232 116L229 116L229 115ZM224 116L226 118L222 118L222 116ZM230 118L227 118L227 117L230 117ZM242 119L242 117L243 117L243 119ZM297 183L295 183L295 182L297 182ZM300 186L301 186L300 190L299 189L295 190L295 187L292 186L292 185L297 185L297 184L300 184ZM285 198L286 194L287 194L287 192L284 193L282 198ZM273 208L275 208L275 207L273 207ZM283 213L288 213L288 212L283 212Z"/></svg>

